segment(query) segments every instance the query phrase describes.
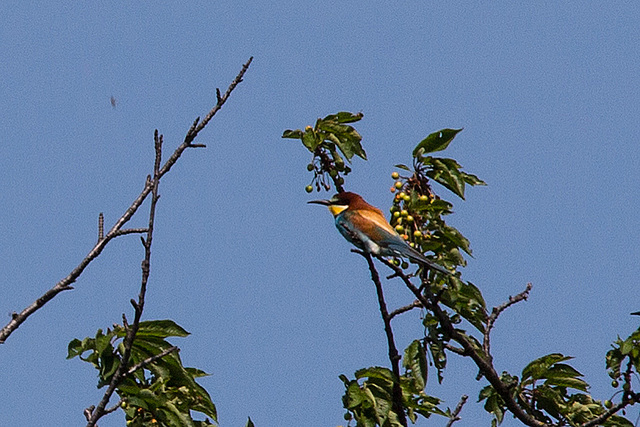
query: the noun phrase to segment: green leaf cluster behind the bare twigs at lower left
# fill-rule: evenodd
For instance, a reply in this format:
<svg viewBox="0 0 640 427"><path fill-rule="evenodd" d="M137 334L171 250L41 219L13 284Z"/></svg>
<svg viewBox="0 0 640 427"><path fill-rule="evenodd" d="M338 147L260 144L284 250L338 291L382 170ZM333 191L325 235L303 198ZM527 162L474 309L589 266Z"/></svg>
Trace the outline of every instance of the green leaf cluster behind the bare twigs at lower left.
<svg viewBox="0 0 640 427"><path fill-rule="evenodd" d="M128 426L202 427L214 425L208 418L194 420L191 411L217 422L216 407L207 391L196 382L205 372L183 366L177 351L154 359L172 347L166 339L189 335L172 320L140 322L131 348L128 368L140 365L117 386L120 407ZM122 363L126 329L114 325L96 336L69 343L67 359L79 357L98 370L98 388L108 385ZM153 360L151 362L148 362ZM148 363L145 363L148 362Z"/></svg>

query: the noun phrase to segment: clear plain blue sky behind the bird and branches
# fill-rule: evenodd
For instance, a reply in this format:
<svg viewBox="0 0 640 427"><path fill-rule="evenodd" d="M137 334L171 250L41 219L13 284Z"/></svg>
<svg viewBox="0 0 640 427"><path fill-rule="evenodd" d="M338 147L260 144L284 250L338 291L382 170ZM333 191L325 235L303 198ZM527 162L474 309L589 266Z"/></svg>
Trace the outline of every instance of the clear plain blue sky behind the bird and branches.
<svg viewBox="0 0 640 427"><path fill-rule="evenodd" d="M145 310L192 333L175 342L212 374L221 425L339 425L338 375L388 363L366 264L306 204L309 155L280 138L341 110L364 113L370 159L346 187L385 209L393 165L465 128L447 155L489 186L465 202L440 190L474 250L463 278L490 306L534 286L497 324L497 370L561 352L609 398L604 355L640 310L639 14L631 1L3 2L2 323L85 256L99 212L111 225L138 194L154 129L168 154L254 56L200 135L208 148L162 181ZM102 390L67 344L131 316L142 256L137 237L112 242L0 347L0 425L83 424ZM400 283L387 294L411 300ZM420 336L416 316L396 322L400 346ZM452 357L427 386L452 407L470 395L457 427L489 425L475 374Z"/></svg>

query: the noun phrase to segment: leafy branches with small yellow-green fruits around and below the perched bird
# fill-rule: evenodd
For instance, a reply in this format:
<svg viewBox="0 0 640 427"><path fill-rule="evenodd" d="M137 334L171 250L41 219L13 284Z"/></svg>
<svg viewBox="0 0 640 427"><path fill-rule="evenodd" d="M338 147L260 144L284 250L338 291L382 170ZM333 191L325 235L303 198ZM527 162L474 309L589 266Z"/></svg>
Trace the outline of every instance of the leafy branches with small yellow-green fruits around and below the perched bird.
<svg viewBox="0 0 640 427"><path fill-rule="evenodd" d="M312 153L312 162L307 169L313 172L313 178L312 185L306 187L307 192L312 192L314 187L316 191L328 191L331 183L336 191L345 191L344 176L352 169L345 166L336 148L349 161L356 154L366 160L362 137L351 125L344 124L357 122L362 117L361 113L340 112L318 119L314 127L307 126L304 131L286 130L283 133L283 138L300 139ZM437 414L449 418L447 425L453 424L460 418L466 396L452 410L443 408L440 399L425 391L430 366L427 354L438 381L443 380L447 360L453 354L472 359L480 377L487 381L478 401L483 402L484 409L492 415L493 426L499 425L507 412L528 426L632 426L633 423L623 415L627 407L640 400L640 394L633 391L632 384L640 368L640 329L625 340L616 340L606 355L612 386L618 389L622 383L622 389L604 403L589 394L589 384L569 364L572 358L559 353L533 360L519 376L508 372L498 374L491 356L491 330L504 310L528 297L531 285L488 310L481 290L462 279L458 268L466 265L464 255L471 255L470 243L459 230L446 223L453 204L433 189L433 183L437 183L464 200L468 186L486 185L477 176L464 171L454 159L434 155L446 150L460 131L462 129L442 129L431 133L413 149L411 166L396 165L398 171L392 173L395 182L391 187L390 207L390 224L395 230L412 247L437 259L453 274L425 271L399 259L375 256L392 270L391 280L401 280L415 298L407 306L389 313L373 255L354 250L367 259L376 285L391 368L359 369L354 379L340 376L345 385L342 398L347 410L345 419L355 420L357 426L392 427L406 426L407 419L415 423L420 416L429 418ZM395 349L391 321L415 308L424 310L425 332L416 337L400 358ZM404 368L402 374L400 360Z"/></svg>

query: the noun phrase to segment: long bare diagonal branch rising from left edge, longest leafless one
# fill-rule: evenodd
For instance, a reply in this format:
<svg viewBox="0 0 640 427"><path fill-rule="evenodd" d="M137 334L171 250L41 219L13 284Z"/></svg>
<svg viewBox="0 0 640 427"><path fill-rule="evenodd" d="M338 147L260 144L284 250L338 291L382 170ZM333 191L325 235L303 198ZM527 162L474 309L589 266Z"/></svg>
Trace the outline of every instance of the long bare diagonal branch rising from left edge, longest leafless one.
<svg viewBox="0 0 640 427"><path fill-rule="evenodd" d="M199 122L199 119L196 119L187 135L185 136L185 140L176 150L173 152L171 157L166 161L166 163L160 169L160 177L164 176L171 167L178 161L182 153L187 148L197 148L202 147L203 144L192 144L193 140L196 138L198 133L204 129L206 124L213 118L213 116L220 110L222 105L227 101L231 92L236 88L236 86L242 81L244 74L246 73L249 65L253 57L249 58L249 60L242 66L242 70L238 73L235 79L229 85L229 88L225 92L225 94L218 98L215 107L205 116L205 120ZM42 296L40 296L37 300L35 300L32 304L24 308L20 313L12 313L11 320L7 323L2 329L0 329L0 344L4 344L4 342L9 338L9 336L16 330L18 327L24 323L29 316L42 308L46 303L51 301L56 295L58 295L62 291L67 291L73 289L71 286L80 275L83 273L85 268L91 262L96 259L107 246L107 244L114 239L115 237L121 236L122 227L131 219L131 217L136 213L138 208L142 205L142 203L146 200L147 196L151 192L152 183L147 180L145 182L144 188L136 197L136 199L131 203L131 205L127 208L124 214L116 221L116 223L111 227L111 230L104 235L103 239L99 239L98 242L94 245L94 247L89 251L87 256L76 266L76 268L69 273L69 275L58 283L56 283L51 289L46 291ZM126 234L126 233L125 233Z"/></svg>

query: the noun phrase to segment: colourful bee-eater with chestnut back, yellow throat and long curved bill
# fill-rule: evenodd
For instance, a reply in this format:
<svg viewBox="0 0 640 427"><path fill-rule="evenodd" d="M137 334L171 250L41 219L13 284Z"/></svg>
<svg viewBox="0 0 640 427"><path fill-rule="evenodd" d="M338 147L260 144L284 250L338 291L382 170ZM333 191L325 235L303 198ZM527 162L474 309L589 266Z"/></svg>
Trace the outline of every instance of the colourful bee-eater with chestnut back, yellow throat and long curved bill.
<svg viewBox="0 0 640 427"><path fill-rule="evenodd" d="M452 274L409 246L387 222L382 211L367 203L359 194L346 191L337 193L329 200L311 200L307 203L327 206L340 234L365 252L406 257L440 273Z"/></svg>

